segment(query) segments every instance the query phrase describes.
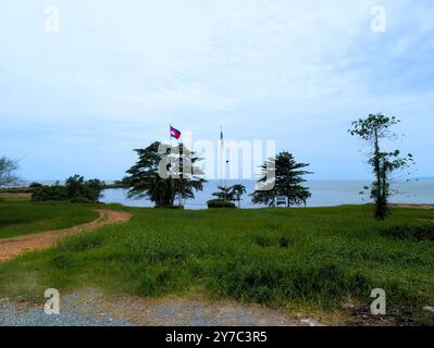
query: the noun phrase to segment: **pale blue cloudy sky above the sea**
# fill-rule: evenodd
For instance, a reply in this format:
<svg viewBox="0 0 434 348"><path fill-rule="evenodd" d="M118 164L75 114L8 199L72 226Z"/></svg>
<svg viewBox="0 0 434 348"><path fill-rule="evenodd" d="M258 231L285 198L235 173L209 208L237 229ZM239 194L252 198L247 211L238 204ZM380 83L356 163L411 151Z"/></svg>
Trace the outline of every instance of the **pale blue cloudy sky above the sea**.
<svg viewBox="0 0 434 348"><path fill-rule="evenodd" d="M434 176L433 18L432 0L1 1L0 156L25 179L116 179L169 124L215 145L222 125L362 179L347 130L382 112Z"/></svg>

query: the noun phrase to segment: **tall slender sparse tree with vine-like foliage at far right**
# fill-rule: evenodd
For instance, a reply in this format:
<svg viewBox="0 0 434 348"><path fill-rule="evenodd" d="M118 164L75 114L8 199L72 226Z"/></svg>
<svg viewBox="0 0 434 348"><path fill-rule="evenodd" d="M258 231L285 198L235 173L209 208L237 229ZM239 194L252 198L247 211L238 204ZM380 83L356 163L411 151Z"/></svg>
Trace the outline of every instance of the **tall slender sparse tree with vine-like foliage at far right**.
<svg viewBox="0 0 434 348"><path fill-rule="evenodd" d="M399 150L383 151L381 149L382 139L392 140L398 137L389 128L399 122L395 116L388 117L381 113L369 114L364 120L359 119L352 122L352 128L348 130L352 136L359 136L368 141L372 148L368 163L372 166L375 176L371 185L371 198L375 202L375 217L379 220L384 220L389 214L387 201L390 196L392 174L409 167L413 162L411 153L400 157Z"/></svg>

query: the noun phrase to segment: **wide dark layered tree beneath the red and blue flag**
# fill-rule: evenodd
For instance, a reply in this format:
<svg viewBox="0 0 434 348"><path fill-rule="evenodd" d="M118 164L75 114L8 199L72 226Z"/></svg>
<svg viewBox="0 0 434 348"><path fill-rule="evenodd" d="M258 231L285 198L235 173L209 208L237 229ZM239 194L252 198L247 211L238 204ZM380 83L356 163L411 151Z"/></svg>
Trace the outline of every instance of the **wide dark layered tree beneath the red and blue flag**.
<svg viewBox="0 0 434 348"><path fill-rule="evenodd" d="M138 161L126 172L129 197L150 199L157 207L173 207L176 198L182 206L195 197L195 190L203 189L203 173L196 165L202 159L183 144L165 146L156 141L134 151Z"/></svg>

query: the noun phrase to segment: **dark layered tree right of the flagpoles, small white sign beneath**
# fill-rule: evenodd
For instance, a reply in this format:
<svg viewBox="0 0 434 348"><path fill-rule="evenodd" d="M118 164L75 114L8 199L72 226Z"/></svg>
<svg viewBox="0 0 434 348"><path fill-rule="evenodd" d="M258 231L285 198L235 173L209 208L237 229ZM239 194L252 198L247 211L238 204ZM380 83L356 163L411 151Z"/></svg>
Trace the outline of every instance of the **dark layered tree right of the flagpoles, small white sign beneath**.
<svg viewBox="0 0 434 348"><path fill-rule="evenodd" d="M309 163L297 163L294 156L287 151L281 152L275 158L269 158L262 167L262 178L258 184L264 184L270 178L270 169L274 169L274 186L269 190L257 189L251 196L253 203L263 203L272 207L276 197L287 198L288 207L306 206L306 201L311 197L308 187L301 184L306 182L303 175L312 174L303 167Z"/></svg>

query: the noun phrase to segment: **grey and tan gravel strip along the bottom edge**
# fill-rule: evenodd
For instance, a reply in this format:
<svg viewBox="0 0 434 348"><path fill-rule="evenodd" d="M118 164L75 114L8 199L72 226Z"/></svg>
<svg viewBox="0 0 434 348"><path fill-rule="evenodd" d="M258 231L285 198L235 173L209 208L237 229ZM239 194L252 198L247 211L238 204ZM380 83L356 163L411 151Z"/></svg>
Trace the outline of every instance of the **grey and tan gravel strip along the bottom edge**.
<svg viewBox="0 0 434 348"><path fill-rule="evenodd" d="M94 288L61 297L59 315L42 304L0 299L0 326L314 326L315 321L262 306L202 299L106 298Z"/></svg>

